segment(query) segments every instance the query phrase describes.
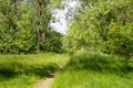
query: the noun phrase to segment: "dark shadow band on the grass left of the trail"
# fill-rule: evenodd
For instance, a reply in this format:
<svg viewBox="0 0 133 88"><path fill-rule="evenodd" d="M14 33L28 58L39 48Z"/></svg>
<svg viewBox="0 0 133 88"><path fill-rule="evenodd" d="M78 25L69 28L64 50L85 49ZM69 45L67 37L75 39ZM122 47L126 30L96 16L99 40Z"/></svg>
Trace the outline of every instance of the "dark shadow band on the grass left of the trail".
<svg viewBox="0 0 133 88"><path fill-rule="evenodd" d="M48 77L54 69L57 64L47 65L24 65L22 63L13 62L10 64L0 64L0 77L9 79L19 75L35 75L40 78Z"/></svg>

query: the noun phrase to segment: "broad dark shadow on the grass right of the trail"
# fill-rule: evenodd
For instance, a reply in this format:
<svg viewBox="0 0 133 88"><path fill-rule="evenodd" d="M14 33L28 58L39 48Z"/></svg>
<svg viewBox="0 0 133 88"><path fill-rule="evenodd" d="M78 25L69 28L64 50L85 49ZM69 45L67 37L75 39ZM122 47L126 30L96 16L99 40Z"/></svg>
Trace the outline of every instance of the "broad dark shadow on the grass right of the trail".
<svg viewBox="0 0 133 88"><path fill-rule="evenodd" d="M129 61L130 62L130 61ZM133 62L125 66L123 57L102 53L81 53L71 56L70 63L64 68L70 70L95 70L125 75L133 72Z"/></svg>

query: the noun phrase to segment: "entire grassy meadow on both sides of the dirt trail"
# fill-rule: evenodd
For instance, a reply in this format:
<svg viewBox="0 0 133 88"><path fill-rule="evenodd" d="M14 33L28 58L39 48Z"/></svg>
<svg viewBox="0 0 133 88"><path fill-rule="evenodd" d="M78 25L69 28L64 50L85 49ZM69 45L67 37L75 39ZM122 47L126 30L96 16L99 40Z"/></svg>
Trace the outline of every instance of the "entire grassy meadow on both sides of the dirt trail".
<svg viewBox="0 0 133 88"><path fill-rule="evenodd" d="M78 52L0 55L0 88L33 88L58 67L51 88L132 88L133 59L103 53Z"/></svg>

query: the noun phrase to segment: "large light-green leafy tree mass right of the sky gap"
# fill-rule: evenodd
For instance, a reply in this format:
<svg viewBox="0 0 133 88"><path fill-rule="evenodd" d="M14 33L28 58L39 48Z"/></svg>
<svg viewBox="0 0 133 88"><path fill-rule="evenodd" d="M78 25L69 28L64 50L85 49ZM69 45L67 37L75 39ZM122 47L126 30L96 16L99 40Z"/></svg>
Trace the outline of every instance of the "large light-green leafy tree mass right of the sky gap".
<svg viewBox="0 0 133 88"><path fill-rule="evenodd" d="M80 10L64 37L68 38L65 46L72 51L95 50L130 58L133 55L132 4L132 0L98 0L93 7Z"/></svg>

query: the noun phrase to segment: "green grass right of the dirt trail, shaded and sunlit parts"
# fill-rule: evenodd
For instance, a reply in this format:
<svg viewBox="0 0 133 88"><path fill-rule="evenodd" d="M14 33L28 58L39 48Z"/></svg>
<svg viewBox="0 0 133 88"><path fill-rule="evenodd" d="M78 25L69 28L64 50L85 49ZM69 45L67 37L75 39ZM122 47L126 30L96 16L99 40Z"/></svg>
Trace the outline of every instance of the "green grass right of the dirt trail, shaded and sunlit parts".
<svg viewBox="0 0 133 88"><path fill-rule="evenodd" d="M78 53L57 75L51 88L132 88L133 62L102 53Z"/></svg>

